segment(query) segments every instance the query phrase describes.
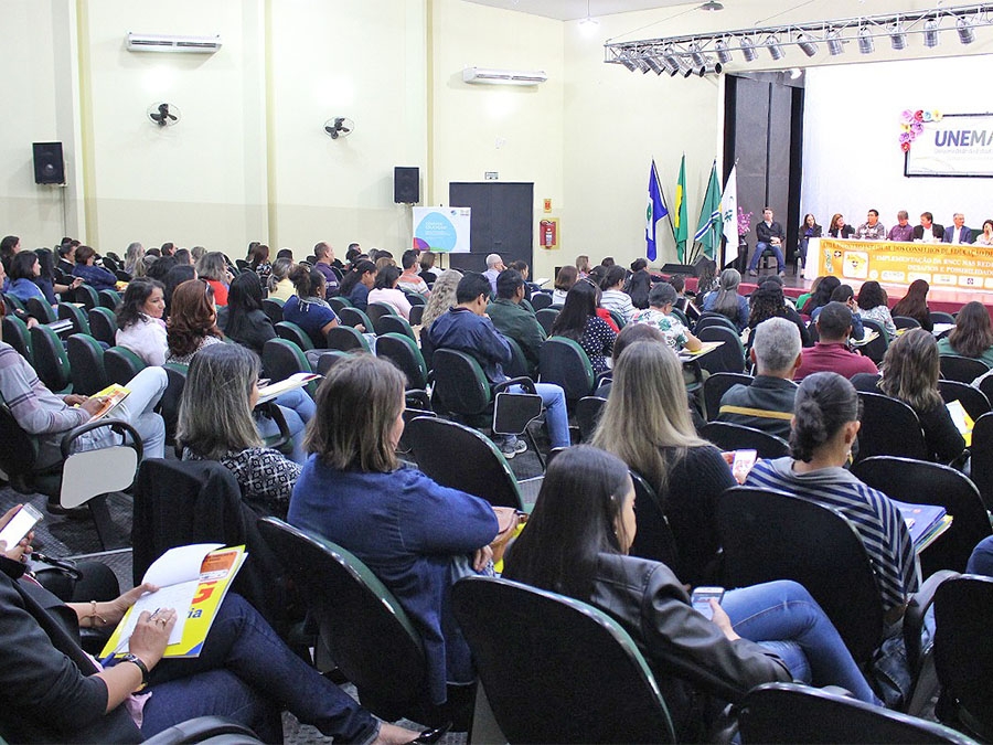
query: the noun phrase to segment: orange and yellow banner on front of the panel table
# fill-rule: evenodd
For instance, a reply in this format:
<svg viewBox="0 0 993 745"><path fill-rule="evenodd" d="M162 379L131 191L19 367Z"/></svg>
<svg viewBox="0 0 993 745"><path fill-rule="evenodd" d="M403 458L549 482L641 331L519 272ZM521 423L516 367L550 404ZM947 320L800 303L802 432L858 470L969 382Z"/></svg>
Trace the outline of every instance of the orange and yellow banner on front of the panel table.
<svg viewBox="0 0 993 745"><path fill-rule="evenodd" d="M993 289L993 248L983 246L811 238L808 258L811 252L818 275L842 281L909 285L923 279L931 287Z"/></svg>

